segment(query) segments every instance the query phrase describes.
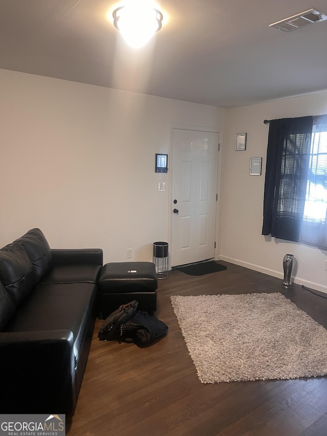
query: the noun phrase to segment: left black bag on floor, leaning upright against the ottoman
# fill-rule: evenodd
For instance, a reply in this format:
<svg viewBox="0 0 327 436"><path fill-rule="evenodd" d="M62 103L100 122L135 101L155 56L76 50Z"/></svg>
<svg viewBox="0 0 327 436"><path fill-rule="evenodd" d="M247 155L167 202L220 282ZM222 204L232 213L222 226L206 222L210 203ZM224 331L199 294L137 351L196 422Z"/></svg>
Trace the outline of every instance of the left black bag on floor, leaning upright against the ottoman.
<svg viewBox="0 0 327 436"><path fill-rule="evenodd" d="M121 326L135 315L137 306L138 302L133 300L110 313L99 328L99 340L119 339Z"/></svg>

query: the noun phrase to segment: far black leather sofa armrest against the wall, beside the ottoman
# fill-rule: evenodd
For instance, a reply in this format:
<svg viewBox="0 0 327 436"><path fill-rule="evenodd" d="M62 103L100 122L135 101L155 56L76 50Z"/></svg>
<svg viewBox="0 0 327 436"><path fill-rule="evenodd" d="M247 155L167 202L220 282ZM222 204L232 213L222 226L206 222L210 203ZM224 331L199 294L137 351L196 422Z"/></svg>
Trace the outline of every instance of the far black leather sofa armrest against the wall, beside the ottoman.
<svg viewBox="0 0 327 436"><path fill-rule="evenodd" d="M52 264L57 265L103 265L101 248L53 248Z"/></svg>

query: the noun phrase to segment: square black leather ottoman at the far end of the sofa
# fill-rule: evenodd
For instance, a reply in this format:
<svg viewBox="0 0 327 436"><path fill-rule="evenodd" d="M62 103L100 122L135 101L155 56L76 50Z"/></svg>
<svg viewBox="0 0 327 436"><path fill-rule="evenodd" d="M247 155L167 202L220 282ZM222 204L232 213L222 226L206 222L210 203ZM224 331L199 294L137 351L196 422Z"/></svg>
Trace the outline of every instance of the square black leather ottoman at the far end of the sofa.
<svg viewBox="0 0 327 436"><path fill-rule="evenodd" d="M138 301L138 308L157 310L158 281L152 262L111 262L102 267L98 292L99 318L105 319L122 304Z"/></svg>

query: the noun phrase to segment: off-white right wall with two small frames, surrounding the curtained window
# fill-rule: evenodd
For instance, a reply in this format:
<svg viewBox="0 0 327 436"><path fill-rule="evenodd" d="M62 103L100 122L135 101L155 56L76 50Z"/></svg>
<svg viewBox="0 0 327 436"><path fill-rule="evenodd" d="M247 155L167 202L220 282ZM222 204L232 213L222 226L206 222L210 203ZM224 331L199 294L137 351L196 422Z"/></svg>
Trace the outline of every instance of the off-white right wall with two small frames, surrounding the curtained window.
<svg viewBox="0 0 327 436"><path fill-rule="evenodd" d="M295 283L327 292L327 252L261 235L269 124L264 119L327 113L327 91L227 109L224 128L220 258L283 277L283 258L293 254ZM247 133L245 151L235 151L235 134ZM262 157L262 175L250 176L250 157Z"/></svg>

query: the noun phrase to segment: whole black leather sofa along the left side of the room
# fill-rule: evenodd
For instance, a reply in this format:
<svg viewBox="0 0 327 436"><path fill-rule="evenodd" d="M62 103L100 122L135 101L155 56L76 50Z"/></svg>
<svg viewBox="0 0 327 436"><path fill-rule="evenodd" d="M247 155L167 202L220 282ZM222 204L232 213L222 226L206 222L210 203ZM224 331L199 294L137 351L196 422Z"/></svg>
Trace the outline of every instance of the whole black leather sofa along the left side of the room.
<svg viewBox="0 0 327 436"><path fill-rule="evenodd" d="M101 249L0 249L0 411L73 415L97 314Z"/></svg>

